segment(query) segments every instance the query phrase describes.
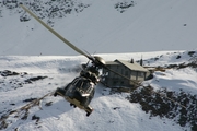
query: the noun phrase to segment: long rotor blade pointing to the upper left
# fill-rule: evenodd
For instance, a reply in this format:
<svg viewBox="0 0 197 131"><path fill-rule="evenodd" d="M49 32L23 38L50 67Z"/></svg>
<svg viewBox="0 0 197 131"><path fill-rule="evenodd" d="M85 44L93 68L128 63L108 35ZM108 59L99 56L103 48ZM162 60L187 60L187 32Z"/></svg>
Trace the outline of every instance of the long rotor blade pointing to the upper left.
<svg viewBox="0 0 197 131"><path fill-rule="evenodd" d="M92 57L90 57L89 55L86 55L85 52L83 52L82 50L80 50L78 47L76 47L74 45L72 45L69 40L67 40L66 38L63 38L60 34L58 34L56 31L54 31L50 26L48 26L47 24L45 24L42 20L39 20L34 13L32 13L28 9L26 9L23 4L20 4L21 8L23 8L26 12L28 12L35 20L37 20L43 26L45 26L48 31L50 31L54 35L56 35L59 39L61 39L65 44L67 44L69 47L71 47L73 50L76 50L77 52L85 56L89 59L92 59Z"/></svg>

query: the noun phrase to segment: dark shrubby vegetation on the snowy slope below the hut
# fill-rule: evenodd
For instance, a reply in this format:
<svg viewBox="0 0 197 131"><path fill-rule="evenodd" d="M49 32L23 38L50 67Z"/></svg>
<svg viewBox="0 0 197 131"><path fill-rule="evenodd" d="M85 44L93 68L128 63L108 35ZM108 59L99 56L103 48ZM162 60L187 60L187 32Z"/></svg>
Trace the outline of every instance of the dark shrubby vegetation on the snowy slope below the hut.
<svg viewBox="0 0 197 131"><path fill-rule="evenodd" d="M185 93L182 90L179 93L171 92L166 88L152 93L153 88L151 86L148 88L134 91L128 98L130 103L139 103L141 109L149 112L150 117L160 116L174 119L182 127L189 124L192 131L197 130L197 95Z"/></svg>

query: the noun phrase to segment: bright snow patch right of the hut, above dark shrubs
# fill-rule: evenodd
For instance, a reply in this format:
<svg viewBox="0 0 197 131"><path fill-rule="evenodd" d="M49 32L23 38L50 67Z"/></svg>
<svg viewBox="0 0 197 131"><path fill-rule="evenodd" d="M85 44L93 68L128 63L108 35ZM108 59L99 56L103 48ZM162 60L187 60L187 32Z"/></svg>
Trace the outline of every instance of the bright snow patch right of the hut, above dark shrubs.
<svg viewBox="0 0 197 131"><path fill-rule="evenodd" d="M155 72L151 81L153 87L166 87L169 91L184 90L189 94L197 94L197 73L194 69L185 68L181 70L167 70Z"/></svg>

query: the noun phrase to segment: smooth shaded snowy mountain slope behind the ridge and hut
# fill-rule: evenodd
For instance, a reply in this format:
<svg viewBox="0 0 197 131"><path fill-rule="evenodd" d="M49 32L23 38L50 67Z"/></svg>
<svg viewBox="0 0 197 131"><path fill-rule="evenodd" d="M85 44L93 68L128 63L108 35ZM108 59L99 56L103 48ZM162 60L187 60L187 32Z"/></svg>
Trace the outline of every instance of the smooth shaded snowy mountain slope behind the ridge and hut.
<svg viewBox="0 0 197 131"><path fill-rule="evenodd" d="M63 37L90 53L196 48L196 0L72 0L70 3L73 3L70 13L62 13L70 8L58 1L38 0L25 4ZM77 55L22 9L8 9L9 4L13 3L0 3L1 55ZM34 4L43 9L35 11ZM62 11L56 11L55 7ZM55 13L40 15L42 11ZM20 22L23 16L31 20Z"/></svg>

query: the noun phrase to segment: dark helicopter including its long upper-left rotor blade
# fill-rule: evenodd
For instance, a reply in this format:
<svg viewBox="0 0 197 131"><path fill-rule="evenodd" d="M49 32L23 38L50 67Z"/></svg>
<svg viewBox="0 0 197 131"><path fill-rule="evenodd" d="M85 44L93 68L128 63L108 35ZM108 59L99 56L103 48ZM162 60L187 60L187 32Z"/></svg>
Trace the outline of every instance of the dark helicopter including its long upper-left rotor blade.
<svg viewBox="0 0 197 131"><path fill-rule="evenodd" d="M26 12L28 12L35 20L37 20L42 25L49 29L54 35L60 38L65 44L70 46L77 52L85 56L91 61L91 63L88 62L85 66L83 66L83 70L80 72L79 76L77 76L65 87L58 87L54 93L54 96L60 95L65 97L65 99L70 103L70 106L79 107L86 111L86 116L90 116L90 114L93 111L93 108L90 106L90 103L94 97L95 85L100 82L99 70L101 68L106 68L104 59L99 56L93 57L80 50L66 38L63 38L61 35L59 35L57 32L55 32L51 27L45 24L42 20L39 20L23 4L20 4L20 7L23 8Z"/></svg>

